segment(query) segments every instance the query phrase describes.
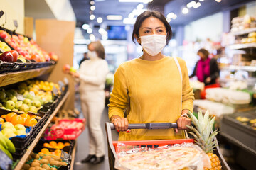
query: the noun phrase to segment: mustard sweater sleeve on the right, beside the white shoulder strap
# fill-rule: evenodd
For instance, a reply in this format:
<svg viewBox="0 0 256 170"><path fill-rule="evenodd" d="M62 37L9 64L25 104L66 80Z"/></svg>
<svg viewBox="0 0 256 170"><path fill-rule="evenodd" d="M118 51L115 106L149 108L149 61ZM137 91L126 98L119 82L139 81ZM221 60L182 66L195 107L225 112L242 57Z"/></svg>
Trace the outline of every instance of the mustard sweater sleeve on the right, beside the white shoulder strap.
<svg viewBox="0 0 256 170"><path fill-rule="evenodd" d="M193 89L189 83L188 69L184 60L180 61L182 69L182 110L188 109L193 112Z"/></svg>

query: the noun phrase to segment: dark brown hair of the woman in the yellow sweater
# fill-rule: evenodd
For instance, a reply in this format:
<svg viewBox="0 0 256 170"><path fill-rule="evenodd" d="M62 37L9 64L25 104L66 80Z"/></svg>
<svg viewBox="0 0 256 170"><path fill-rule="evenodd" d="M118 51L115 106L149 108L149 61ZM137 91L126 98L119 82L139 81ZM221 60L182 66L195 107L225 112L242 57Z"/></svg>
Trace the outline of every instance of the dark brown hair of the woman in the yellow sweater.
<svg viewBox="0 0 256 170"><path fill-rule="evenodd" d="M170 24L166 21L166 18L164 17L164 15L162 13L160 13L159 11L144 11L142 14L140 14L137 19L136 22L134 24L134 29L132 32L132 41L134 43L136 43L135 41L135 35L137 35L137 37L139 37L139 28L142 26L142 22L149 17L154 17L154 18L158 18L160 21L162 21L162 23L164 23L164 26L166 28L166 42L168 44L168 42L171 40L171 35L172 35L172 31L171 31L171 26Z"/></svg>

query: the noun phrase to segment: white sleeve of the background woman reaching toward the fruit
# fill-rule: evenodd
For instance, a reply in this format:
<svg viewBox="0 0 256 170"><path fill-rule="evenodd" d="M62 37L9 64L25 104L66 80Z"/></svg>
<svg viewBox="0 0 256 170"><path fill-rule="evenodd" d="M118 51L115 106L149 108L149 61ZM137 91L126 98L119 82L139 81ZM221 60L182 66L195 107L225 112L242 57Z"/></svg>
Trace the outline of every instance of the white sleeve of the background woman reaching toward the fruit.
<svg viewBox="0 0 256 170"><path fill-rule="evenodd" d="M96 76L86 75L80 72L79 79L90 84L100 85L106 81L106 75L108 72L107 62L102 62L100 67L97 68Z"/></svg>

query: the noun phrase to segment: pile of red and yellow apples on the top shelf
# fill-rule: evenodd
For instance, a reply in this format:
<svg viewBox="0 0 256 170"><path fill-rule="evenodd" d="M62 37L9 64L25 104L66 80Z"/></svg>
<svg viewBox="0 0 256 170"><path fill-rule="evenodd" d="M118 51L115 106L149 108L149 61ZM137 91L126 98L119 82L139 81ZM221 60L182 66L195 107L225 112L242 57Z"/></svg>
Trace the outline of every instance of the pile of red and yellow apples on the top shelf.
<svg viewBox="0 0 256 170"><path fill-rule="evenodd" d="M33 39L29 40L26 36L10 35L6 30L0 30L0 37L27 60L35 60L36 62L58 61L58 56L53 52L46 52Z"/></svg>

